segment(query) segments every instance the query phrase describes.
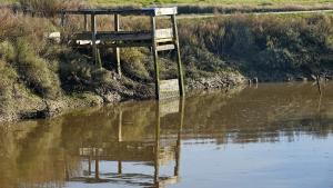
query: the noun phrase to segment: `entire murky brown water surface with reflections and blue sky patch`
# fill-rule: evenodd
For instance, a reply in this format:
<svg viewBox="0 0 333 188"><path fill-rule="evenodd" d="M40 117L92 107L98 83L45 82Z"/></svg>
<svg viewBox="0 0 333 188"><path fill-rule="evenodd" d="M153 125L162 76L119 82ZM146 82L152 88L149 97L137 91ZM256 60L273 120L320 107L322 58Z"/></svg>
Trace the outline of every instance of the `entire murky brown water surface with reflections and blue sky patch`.
<svg viewBox="0 0 333 188"><path fill-rule="evenodd" d="M0 126L0 187L333 188L333 85L274 83Z"/></svg>

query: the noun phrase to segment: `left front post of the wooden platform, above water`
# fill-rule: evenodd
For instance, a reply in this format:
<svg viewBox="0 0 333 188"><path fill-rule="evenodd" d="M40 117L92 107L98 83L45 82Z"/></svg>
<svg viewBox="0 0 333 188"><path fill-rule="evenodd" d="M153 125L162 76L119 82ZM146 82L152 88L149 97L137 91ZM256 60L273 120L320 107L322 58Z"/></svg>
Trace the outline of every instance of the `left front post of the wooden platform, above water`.
<svg viewBox="0 0 333 188"><path fill-rule="evenodd" d="M155 69L155 98L160 99L160 70L159 70L159 55L157 49L157 20L155 17L151 17L151 29L152 29L152 52L154 59L154 69Z"/></svg>

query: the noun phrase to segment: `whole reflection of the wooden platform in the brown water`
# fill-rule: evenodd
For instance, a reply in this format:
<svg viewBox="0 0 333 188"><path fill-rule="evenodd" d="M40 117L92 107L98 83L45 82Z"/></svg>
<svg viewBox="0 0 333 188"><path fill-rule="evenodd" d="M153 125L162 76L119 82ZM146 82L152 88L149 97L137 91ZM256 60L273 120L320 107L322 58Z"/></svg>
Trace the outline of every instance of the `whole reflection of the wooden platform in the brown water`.
<svg viewBox="0 0 333 188"><path fill-rule="evenodd" d="M161 138L161 103L157 102L155 108L155 131L152 139L142 141L125 141L122 140L122 111L119 112L118 123L118 140L108 142L107 146L100 148L84 147L80 148L80 156L88 161L88 174L83 177L71 177L70 181L88 181L88 182L112 182L127 179L127 184L138 184L131 181L131 178L150 177L153 181L153 187L164 187L165 185L175 184L179 181L179 167L180 167L180 150L181 150L181 130L184 116L184 101L180 100L179 103L179 127L176 139L162 139ZM164 141L164 142L163 142ZM170 157L169 154L173 156ZM174 170L172 176L160 177L160 167L163 162L174 160ZM100 174L100 161L117 161L118 170L114 174L108 174L108 177ZM92 164L94 162L94 169ZM123 162L143 162L152 165L154 175L137 175L123 174ZM140 179L139 179L140 180ZM137 179L138 181L138 179Z"/></svg>

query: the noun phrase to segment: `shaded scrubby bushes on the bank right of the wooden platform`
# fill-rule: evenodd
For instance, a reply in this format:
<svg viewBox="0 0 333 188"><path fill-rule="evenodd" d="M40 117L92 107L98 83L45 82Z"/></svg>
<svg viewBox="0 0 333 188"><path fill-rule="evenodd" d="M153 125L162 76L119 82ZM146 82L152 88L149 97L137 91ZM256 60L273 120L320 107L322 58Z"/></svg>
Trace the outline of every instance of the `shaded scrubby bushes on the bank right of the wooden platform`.
<svg viewBox="0 0 333 188"><path fill-rule="evenodd" d="M286 80L332 75L333 16L232 16L181 22L186 62L198 52L212 55L205 70L222 62L249 77ZM213 61L216 59L219 61Z"/></svg>

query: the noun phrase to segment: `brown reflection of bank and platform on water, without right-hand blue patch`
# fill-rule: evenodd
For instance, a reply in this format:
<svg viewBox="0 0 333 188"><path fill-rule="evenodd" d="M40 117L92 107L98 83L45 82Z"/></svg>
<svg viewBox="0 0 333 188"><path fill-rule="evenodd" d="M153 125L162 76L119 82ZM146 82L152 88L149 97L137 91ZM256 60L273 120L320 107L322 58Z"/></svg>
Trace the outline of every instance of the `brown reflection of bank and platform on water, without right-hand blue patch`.
<svg viewBox="0 0 333 188"><path fill-rule="evenodd" d="M178 184L182 141L228 145L329 137L333 96L325 93L332 91L333 85L326 85L319 98L311 85L260 85L3 125L0 187ZM169 170L163 171L164 166Z"/></svg>

